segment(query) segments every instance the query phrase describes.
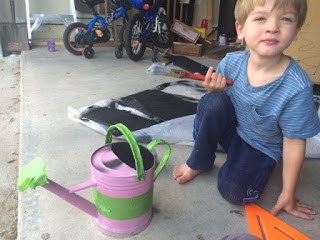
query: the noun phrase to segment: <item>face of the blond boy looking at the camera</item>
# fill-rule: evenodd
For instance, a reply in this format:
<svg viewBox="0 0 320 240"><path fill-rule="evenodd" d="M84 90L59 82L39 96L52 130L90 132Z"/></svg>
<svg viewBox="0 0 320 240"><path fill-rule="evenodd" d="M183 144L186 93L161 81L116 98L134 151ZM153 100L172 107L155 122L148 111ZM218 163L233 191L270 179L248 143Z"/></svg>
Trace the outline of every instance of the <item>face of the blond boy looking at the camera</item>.
<svg viewBox="0 0 320 240"><path fill-rule="evenodd" d="M236 22L238 38L245 39L247 47L258 55L272 57L289 47L300 29L293 8L273 8L274 0L256 6L244 26Z"/></svg>

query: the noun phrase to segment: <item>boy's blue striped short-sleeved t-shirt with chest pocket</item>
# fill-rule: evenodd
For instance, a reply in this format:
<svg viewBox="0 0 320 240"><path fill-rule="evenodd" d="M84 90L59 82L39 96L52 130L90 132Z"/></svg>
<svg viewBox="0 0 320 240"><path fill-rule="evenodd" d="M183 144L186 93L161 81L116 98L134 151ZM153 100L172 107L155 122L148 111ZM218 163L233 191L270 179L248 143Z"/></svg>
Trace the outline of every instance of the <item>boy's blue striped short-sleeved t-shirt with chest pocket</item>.
<svg viewBox="0 0 320 240"><path fill-rule="evenodd" d="M290 59L282 76L264 86L253 87L247 78L249 56L248 51L227 54L217 72L234 82L226 88L226 93L236 111L239 136L279 161L283 137L307 139L320 132L313 83L297 62Z"/></svg>

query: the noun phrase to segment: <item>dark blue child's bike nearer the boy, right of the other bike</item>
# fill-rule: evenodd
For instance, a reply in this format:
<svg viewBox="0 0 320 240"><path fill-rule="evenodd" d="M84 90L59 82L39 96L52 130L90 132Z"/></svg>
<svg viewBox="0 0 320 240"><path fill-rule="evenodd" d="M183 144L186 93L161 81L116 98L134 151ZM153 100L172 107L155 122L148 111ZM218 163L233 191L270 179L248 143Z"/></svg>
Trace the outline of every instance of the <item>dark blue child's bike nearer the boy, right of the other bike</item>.
<svg viewBox="0 0 320 240"><path fill-rule="evenodd" d="M142 58L147 42L158 48L169 48L173 44L173 32L170 31L171 21L166 15L162 1L129 0L138 13L130 17L126 25L125 49L133 61Z"/></svg>

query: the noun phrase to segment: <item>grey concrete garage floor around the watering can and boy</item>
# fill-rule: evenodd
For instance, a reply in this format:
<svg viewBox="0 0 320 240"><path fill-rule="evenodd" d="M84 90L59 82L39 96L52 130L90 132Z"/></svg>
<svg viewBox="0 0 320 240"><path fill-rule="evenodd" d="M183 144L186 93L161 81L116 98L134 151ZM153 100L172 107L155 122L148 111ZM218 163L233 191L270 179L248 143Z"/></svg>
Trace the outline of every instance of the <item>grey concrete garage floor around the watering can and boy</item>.
<svg viewBox="0 0 320 240"><path fill-rule="evenodd" d="M47 176L69 188L90 178L90 156L104 143L104 136L67 118L67 107L80 108L99 100L133 94L175 79L145 73L150 52L137 63L116 59L113 48L96 48L95 58L74 56L63 47L56 52L34 48L21 56L21 147L20 167L40 156ZM210 65L213 59L197 58ZM216 188L219 153L214 169L194 181L179 185L172 179L174 166L184 163L191 148L172 146L172 155L154 186L154 215L150 225L129 239L220 239L249 232L244 209L223 200ZM297 194L320 212L320 161L307 160ZM258 204L270 210L281 190L281 166L277 166ZM91 191L79 194L91 199ZM313 221L282 212L279 218L310 238L320 239L320 216ZM19 194L19 240L112 239L94 219L39 187Z"/></svg>

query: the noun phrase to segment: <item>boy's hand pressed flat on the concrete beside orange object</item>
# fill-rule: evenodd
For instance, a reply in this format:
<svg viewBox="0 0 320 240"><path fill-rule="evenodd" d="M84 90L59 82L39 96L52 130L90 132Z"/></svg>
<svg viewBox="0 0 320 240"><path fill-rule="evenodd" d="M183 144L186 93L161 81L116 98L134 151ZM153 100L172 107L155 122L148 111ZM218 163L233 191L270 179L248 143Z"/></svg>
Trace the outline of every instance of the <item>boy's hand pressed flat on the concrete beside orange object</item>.
<svg viewBox="0 0 320 240"><path fill-rule="evenodd" d="M298 202L294 195L284 192L280 194L276 205L271 210L271 214L277 215L281 210L307 220L313 220L316 215L311 206Z"/></svg>

